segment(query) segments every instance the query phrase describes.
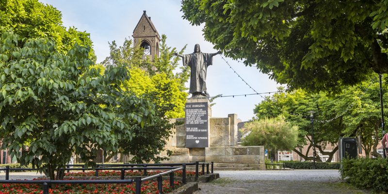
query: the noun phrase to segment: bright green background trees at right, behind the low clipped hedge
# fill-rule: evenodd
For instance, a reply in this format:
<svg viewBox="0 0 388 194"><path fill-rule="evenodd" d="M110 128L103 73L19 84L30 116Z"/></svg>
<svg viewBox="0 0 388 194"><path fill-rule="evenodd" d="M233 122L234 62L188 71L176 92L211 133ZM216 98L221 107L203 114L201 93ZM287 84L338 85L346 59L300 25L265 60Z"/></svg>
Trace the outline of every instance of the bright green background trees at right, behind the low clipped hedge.
<svg viewBox="0 0 388 194"><path fill-rule="evenodd" d="M298 147L308 145L308 150L312 149L310 138L312 130L308 112L315 111L314 119L320 121L338 116L330 122L314 122L314 142L322 154L331 156L328 161L331 161L338 148L327 152L324 151L327 145L336 144L339 137L358 135L361 136L366 154L379 157L377 151L373 149L378 145L378 138L372 139L372 136L381 136L379 83L377 79L373 79L370 84L371 81L365 81L358 86L344 87L343 93L336 97L326 97L324 93L310 94L303 90L278 92L260 102L254 113L258 117L275 117L283 114L287 122L299 126ZM283 91L283 88L279 88L279 91ZM383 94L384 106L387 106L386 88L383 88ZM307 154L299 152L298 149L293 151L305 160L312 160L312 157L307 157ZM320 161L319 157L316 157L316 161Z"/></svg>

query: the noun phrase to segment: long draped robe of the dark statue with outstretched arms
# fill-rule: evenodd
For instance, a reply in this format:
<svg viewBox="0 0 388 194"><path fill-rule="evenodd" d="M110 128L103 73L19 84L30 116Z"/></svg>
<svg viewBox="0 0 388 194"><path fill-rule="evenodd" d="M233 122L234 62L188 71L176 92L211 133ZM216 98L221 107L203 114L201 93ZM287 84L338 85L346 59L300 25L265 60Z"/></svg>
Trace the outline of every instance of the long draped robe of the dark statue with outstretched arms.
<svg viewBox="0 0 388 194"><path fill-rule="evenodd" d="M206 91L206 72L209 65L213 64L213 54L191 53L183 55L183 66L189 66L190 90L189 93Z"/></svg>

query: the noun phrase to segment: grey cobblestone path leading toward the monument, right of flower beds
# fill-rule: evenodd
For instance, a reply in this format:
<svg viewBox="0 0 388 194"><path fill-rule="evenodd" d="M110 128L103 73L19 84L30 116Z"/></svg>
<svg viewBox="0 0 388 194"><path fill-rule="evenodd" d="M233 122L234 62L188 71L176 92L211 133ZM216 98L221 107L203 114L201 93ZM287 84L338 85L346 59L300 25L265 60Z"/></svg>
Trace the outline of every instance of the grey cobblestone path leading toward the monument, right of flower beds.
<svg viewBox="0 0 388 194"><path fill-rule="evenodd" d="M338 170L216 171L194 194L364 194L339 183Z"/></svg>

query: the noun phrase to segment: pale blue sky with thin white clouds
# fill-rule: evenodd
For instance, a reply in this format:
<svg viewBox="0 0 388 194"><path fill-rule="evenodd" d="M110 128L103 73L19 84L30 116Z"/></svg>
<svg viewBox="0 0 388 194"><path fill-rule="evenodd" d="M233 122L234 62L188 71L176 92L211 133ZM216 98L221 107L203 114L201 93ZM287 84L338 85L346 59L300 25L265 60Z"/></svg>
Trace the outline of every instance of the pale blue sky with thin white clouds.
<svg viewBox="0 0 388 194"><path fill-rule="evenodd" d="M133 30L143 15L143 10L151 17L159 34L167 36L168 47L180 50L187 44L184 54L189 54L194 51L194 45L199 44L202 52L217 52L213 49L214 45L205 40L203 26L192 26L188 20L182 18L179 0L40 0L40 2L50 4L61 11L63 25L66 28L74 26L79 31L90 33L97 63L109 56L108 42L115 40L118 46L122 46L125 38L132 39ZM231 58L225 59L258 93L275 92L276 87L280 86L274 80L270 80L268 75L260 73L256 67L245 66ZM179 63L181 66L182 61ZM213 57L213 65L208 67L207 91L210 96L256 93L241 78L229 68L220 55L216 55ZM186 86L189 87L189 83ZM242 121L248 121L255 116L253 109L261 100L263 98L259 95L216 98L213 101L216 104L211 107L212 117L227 117L228 114L234 113Z"/></svg>

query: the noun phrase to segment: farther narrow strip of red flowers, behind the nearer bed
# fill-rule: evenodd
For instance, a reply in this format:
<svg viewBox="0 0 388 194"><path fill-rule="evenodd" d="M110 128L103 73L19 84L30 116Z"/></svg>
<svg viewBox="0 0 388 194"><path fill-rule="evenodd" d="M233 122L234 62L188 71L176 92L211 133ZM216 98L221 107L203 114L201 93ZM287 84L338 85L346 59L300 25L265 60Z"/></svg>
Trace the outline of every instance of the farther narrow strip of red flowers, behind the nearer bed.
<svg viewBox="0 0 388 194"><path fill-rule="evenodd" d="M156 175L158 173L162 173L166 171L147 171L148 176ZM143 176L144 172L138 172L138 171L126 171L125 176ZM199 175L202 175L202 171L198 172ZM182 171L176 171L174 172L175 177L182 177L183 172ZM77 173L66 173L65 176L69 177L94 177L95 171L88 171L88 172L77 172ZM121 176L121 171L98 171L98 177L107 177L107 176ZM186 177L195 176L195 171L186 171Z"/></svg>

